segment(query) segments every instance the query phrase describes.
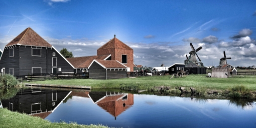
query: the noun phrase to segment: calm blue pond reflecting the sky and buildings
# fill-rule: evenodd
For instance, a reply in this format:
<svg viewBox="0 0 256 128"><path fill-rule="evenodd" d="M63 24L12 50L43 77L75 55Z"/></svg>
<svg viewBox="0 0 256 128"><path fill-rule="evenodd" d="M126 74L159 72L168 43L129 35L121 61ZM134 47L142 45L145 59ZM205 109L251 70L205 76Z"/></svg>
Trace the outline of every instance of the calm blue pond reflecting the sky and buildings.
<svg viewBox="0 0 256 128"><path fill-rule="evenodd" d="M4 107L52 122L110 127L256 127L256 102L117 91L24 89Z"/></svg>

